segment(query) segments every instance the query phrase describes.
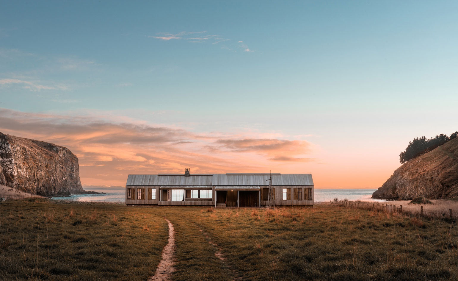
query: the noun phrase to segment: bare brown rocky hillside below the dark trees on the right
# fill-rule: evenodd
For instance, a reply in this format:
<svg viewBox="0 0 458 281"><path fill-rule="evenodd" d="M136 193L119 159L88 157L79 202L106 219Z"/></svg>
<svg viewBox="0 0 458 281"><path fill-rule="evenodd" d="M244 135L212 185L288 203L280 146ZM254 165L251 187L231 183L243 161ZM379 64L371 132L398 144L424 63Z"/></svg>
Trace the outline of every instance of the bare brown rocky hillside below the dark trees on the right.
<svg viewBox="0 0 458 281"><path fill-rule="evenodd" d="M458 197L458 138L400 166L372 198Z"/></svg>

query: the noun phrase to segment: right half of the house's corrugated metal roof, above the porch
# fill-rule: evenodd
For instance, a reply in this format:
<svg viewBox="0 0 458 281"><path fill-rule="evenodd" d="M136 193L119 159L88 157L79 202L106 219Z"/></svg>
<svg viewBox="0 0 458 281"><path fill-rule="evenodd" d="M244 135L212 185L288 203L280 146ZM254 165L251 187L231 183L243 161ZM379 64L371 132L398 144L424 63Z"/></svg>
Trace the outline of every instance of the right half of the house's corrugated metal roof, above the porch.
<svg viewBox="0 0 458 281"><path fill-rule="evenodd" d="M269 185L269 175L214 174L213 185ZM272 185L313 185L311 174L272 174Z"/></svg>

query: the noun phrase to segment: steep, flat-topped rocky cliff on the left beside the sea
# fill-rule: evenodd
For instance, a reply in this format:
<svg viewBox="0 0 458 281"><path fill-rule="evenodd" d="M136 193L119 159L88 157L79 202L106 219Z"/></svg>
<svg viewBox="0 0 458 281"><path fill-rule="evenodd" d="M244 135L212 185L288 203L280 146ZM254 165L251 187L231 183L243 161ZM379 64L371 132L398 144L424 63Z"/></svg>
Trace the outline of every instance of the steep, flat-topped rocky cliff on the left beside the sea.
<svg viewBox="0 0 458 281"><path fill-rule="evenodd" d="M69 149L1 132L0 184L43 196L85 193Z"/></svg>

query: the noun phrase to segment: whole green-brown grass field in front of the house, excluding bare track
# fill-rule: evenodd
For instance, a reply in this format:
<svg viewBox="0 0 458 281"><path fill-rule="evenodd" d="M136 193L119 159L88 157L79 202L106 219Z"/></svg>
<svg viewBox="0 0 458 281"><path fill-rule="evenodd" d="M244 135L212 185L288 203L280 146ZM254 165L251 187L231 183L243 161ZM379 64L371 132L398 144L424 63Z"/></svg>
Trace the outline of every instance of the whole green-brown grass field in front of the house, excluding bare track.
<svg viewBox="0 0 458 281"><path fill-rule="evenodd" d="M208 209L45 199L0 204L0 274L144 281L167 243L164 217L175 228L174 280L458 280L458 231L443 220L326 205ZM215 257L218 248L226 259Z"/></svg>

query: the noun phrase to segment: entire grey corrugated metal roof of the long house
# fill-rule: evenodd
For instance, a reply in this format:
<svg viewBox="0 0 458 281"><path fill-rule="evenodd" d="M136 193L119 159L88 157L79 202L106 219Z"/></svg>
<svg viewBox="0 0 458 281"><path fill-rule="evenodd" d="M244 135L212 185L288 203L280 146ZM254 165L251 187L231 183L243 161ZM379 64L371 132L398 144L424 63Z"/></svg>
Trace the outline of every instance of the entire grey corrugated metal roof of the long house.
<svg viewBox="0 0 458 281"><path fill-rule="evenodd" d="M211 175L129 175L126 186L162 185L268 185L269 175L265 174L213 174ZM272 174L273 185L313 185L311 174Z"/></svg>

